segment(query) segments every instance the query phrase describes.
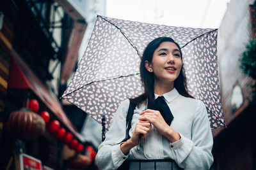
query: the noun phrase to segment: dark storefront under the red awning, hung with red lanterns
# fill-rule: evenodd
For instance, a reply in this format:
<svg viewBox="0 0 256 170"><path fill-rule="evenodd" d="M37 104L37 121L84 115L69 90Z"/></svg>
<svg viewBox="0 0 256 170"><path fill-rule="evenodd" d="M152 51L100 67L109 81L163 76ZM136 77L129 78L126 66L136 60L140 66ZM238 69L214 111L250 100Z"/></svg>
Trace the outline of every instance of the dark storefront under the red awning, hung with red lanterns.
<svg viewBox="0 0 256 170"><path fill-rule="evenodd" d="M6 94L9 117L3 140L3 153L8 155L8 164L13 161L15 169L20 169L22 160L28 156L53 169L89 167L95 152L90 146L86 148L83 136L67 118L60 101L44 87L16 52L12 51L11 56ZM79 157L84 160L83 164L74 163Z"/></svg>

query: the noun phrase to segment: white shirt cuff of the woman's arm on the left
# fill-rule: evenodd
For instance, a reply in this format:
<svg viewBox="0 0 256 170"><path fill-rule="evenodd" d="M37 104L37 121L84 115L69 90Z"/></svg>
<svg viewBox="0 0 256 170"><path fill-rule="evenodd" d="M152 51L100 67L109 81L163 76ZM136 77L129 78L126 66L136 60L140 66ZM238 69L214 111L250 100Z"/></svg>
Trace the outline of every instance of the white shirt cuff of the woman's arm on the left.
<svg viewBox="0 0 256 170"><path fill-rule="evenodd" d="M111 157L113 160L114 167L116 169L120 167L129 156L129 153L127 155L124 155L124 153L121 150L121 144L122 143L115 145L111 148Z"/></svg>

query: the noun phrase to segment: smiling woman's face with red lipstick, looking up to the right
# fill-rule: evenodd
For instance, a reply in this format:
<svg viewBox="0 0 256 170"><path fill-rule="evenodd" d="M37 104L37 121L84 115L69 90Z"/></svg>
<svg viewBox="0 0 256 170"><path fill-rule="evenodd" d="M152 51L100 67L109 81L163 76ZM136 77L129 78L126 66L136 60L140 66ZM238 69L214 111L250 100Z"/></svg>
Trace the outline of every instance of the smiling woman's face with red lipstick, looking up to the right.
<svg viewBox="0 0 256 170"><path fill-rule="evenodd" d="M157 81L163 83L174 81L180 74L181 66L182 60L178 46L166 41L155 50L152 63L146 67L148 71L154 73L155 83Z"/></svg>

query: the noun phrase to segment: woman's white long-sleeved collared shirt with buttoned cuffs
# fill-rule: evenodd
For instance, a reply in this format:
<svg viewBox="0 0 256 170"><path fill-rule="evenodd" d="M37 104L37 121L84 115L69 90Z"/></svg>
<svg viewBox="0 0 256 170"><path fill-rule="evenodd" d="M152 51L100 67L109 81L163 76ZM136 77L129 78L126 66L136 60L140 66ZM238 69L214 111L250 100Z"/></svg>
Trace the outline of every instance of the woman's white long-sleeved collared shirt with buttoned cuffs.
<svg viewBox="0 0 256 170"><path fill-rule="evenodd" d="M125 159L173 159L184 169L209 169L213 162L212 133L205 105L202 101L184 97L176 89L163 95L173 114L170 125L180 134L180 140L170 143L159 134L155 127L147 134L137 149L135 146L124 155L120 150L120 142L125 138L126 115L129 99L123 101L116 110L111 127L106 133L106 139L99 146L96 163L100 169L117 169ZM158 96L155 94L155 97ZM141 111L146 109L146 103L136 107L132 117L129 135L139 122Z"/></svg>

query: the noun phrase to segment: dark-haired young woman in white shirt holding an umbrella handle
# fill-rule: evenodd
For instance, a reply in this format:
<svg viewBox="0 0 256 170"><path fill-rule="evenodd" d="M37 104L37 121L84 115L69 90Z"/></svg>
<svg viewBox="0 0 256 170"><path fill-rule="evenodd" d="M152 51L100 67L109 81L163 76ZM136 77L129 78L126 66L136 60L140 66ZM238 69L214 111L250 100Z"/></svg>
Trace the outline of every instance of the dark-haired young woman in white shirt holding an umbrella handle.
<svg viewBox="0 0 256 170"><path fill-rule="evenodd" d="M188 94L180 46L172 38L151 41L143 53L140 75L145 93L123 101L96 163L117 169L209 169L212 133L202 101ZM136 103L130 139L123 142L129 103Z"/></svg>

